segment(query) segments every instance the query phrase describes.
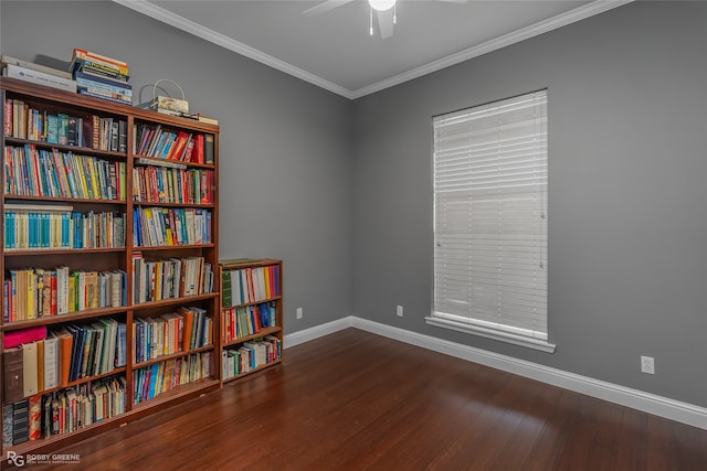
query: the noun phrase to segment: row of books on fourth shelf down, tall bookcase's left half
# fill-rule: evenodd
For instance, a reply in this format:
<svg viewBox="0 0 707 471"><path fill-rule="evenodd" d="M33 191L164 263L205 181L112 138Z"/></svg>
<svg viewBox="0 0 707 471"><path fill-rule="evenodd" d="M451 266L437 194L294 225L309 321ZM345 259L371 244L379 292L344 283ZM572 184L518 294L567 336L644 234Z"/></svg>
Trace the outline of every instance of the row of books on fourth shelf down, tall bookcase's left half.
<svg viewBox="0 0 707 471"><path fill-rule="evenodd" d="M123 270L70 272L61 266L10 269L9 274L3 281L4 322L127 306Z"/></svg>

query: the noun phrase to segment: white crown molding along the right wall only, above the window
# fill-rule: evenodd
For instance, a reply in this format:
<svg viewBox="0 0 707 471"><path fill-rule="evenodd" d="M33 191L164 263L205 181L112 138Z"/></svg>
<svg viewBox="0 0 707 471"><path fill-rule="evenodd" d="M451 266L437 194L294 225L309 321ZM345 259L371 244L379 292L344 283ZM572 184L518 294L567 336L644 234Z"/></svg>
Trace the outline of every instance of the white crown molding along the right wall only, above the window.
<svg viewBox="0 0 707 471"><path fill-rule="evenodd" d="M439 61L431 62L393 77L386 78L384 81L380 81L366 87L352 90L352 99L360 98L362 96L402 84L403 82L412 81L413 78L441 71L452 65L468 61L469 58L478 57L479 55L487 54L489 52L506 47L515 43L519 43L539 34L547 33L548 31L557 30L558 28L562 28L577 21L593 17L595 14L603 13L604 11L612 10L626 3L631 3L632 1L634 0L595 0L591 3L578 7L573 10L558 14L548 20L539 21L529 26L523 28L508 34L504 34L503 36L498 36L490 41L486 41L485 43L482 43L474 47L469 47L456 54L449 55Z"/></svg>

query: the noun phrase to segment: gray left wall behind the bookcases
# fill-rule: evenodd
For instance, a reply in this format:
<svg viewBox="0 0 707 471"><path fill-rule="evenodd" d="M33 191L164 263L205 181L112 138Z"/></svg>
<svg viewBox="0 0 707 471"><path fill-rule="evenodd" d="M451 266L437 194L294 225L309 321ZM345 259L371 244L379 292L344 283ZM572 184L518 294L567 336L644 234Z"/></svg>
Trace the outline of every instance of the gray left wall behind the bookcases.
<svg viewBox="0 0 707 471"><path fill-rule="evenodd" d="M113 2L3 0L0 13L3 54L124 60L143 101L178 82L221 125L220 256L284 260L285 333L351 312L349 100Z"/></svg>

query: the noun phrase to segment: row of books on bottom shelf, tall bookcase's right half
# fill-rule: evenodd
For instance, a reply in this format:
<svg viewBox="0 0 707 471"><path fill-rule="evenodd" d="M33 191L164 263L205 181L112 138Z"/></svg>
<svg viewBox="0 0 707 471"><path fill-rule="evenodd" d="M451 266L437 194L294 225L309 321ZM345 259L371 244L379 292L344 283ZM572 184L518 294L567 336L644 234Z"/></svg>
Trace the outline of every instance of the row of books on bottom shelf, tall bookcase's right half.
<svg viewBox="0 0 707 471"><path fill-rule="evenodd" d="M135 404L149 400L178 386L211 376L211 352L156 363L133 371Z"/></svg>

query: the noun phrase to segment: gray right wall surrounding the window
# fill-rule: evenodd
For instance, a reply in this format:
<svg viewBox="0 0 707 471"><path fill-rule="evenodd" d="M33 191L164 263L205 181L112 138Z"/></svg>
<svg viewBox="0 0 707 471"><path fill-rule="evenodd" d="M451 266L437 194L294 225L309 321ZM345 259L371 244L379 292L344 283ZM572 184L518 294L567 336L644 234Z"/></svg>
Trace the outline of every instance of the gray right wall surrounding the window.
<svg viewBox="0 0 707 471"><path fill-rule="evenodd" d="M630 3L356 100L355 313L707 406L706 24ZM545 87L553 354L423 320L432 116Z"/></svg>

